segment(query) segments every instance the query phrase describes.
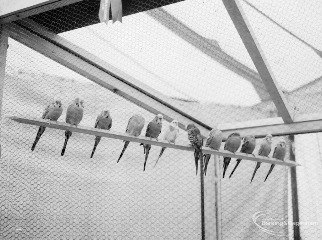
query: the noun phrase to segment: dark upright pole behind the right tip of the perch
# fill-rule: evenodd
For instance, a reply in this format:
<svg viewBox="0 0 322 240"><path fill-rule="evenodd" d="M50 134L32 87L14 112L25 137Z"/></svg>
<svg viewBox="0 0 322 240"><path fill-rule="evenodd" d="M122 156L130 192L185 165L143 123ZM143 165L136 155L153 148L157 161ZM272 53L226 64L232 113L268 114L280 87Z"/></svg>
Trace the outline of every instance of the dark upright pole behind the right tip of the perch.
<svg viewBox="0 0 322 240"><path fill-rule="evenodd" d="M289 135L289 159L295 161L294 135ZM293 222L299 222L298 216L298 187L296 180L296 167L290 167L291 171L291 190L292 190L292 208ZM294 240L300 240L300 227L293 225Z"/></svg>

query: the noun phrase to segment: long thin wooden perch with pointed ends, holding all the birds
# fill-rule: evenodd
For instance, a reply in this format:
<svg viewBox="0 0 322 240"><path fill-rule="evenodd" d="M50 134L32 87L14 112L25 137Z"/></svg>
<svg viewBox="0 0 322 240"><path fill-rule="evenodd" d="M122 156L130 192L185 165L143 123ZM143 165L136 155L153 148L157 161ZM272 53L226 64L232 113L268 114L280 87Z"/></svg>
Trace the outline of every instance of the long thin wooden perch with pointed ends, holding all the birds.
<svg viewBox="0 0 322 240"><path fill-rule="evenodd" d="M6 118L9 118L11 120L20 122L20 123L25 123L25 124L31 124L31 125L36 125L36 126L43 126L46 128L54 128L54 129L60 129L60 130L68 130L71 132L80 132L84 134L90 134L94 136L101 136L101 137L107 137L107 138L113 138L113 139L120 139L120 140L126 140L126 141L131 141L131 142L139 142L139 143L146 143L150 145L155 145L159 147L167 147L167 148L173 148L173 149L179 149L179 150L185 150L185 151L194 151L194 148L190 144L173 144L169 143L168 141L165 140L158 140L156 141L155 139L150 140L148 137L143 137L143 136L137 136L133 137L132 135L129 135L127 133L123 132L115 132L115 131L110 131L110 130L103 130L103 129L97 129L97 128L92 128L92 127L86 127L86 126L81 126L78 125L76 126L71 126L71 124L65 123L65 122L57 122L57 123L49 123L48 120L44 120L41 118L35 118L35 117L27 117L27 116L22 116L22 115L5 115ZM252 154L246 154L246 153L241 153L241 152L236 152L232 153L227 150L213 150L208 147L203 147L203 153L208 153L208 154L213 154L217 156L224 156L224 157L231 157L231 158L241 158L245 160L251 160L255 162L266 162L270 164L277 164L277 165L283 165L283 166L291 166L291 167L296 167L299 166L294 161L289 161L289 160L284 160L284 161L279 161L276 158L269 158L269 157L263 157L263 156L253 156Z"/></svg>

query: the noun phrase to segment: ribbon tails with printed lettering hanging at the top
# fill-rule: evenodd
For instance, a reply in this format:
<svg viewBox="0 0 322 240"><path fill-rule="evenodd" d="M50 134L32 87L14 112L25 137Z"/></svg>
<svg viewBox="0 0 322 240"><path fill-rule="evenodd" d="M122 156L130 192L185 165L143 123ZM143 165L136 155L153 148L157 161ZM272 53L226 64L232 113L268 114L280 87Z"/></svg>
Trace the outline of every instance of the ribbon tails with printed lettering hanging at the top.
<svg viewBox="0 0 322 240"><path fill-rule="evenodd" d="M122 1L121 0L101 0L99 6L99 21L108 23L109 7L111 6L113 23L122 22Z"/></svg>

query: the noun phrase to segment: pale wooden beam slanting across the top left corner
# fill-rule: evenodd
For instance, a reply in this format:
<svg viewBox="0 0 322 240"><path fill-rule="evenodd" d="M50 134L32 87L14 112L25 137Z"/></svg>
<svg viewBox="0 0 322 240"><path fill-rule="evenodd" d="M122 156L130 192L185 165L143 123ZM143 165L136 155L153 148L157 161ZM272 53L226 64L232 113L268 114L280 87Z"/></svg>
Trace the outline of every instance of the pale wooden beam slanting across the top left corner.
<svg viewBox="0 0 322 240"><path fill-rule="evenodd" d="M35 14L43 13L55 8L59 8L62 6L66 6L69 4L77 3L82 0L58 0L58 1L46 1L42 4L37 4L34 6L30 6L24 9L20 9L18 11L14 11L12 13L4 14L0 16L0 24L10 23L12 21L16 21L18 19L22 19L25 17L29 17ZM53 2L53 3L48 3Z"/></svg>

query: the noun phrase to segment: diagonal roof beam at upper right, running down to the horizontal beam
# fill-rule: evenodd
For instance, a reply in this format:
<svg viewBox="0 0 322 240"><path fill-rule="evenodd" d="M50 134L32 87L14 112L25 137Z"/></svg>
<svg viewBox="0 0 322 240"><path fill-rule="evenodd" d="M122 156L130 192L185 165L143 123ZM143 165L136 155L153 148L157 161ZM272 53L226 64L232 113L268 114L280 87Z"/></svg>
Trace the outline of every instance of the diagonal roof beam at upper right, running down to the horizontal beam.
<svg viewBox="0 0 322 240"><path fill-rule="evenodd" d="M227 9L229 16L235 25L242 42L244 43L251 60L253 61L260 78L262 79L270 98L274 102L279 116L282 117L285 123L293 122L291 109L286 101L286 98L279 87L279 84L270 68L270 65L262 51L260 44L251 28L246 14L238 0L223 0L223 4Z"/></svg>

